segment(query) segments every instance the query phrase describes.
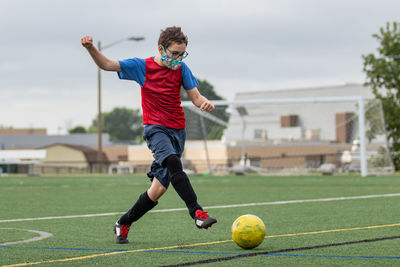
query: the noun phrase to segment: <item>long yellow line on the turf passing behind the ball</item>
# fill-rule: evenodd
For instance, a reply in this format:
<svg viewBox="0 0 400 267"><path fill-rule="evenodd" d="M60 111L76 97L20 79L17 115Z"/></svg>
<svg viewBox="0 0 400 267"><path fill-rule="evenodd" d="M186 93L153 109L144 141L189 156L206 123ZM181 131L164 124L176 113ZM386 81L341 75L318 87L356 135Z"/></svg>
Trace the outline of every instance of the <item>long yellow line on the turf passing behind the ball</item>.
<svg viewBox="0 0 400 267"><path fill-rule="evenodd" d="M271 235L271 236L266 236L265 238L292 237L292 236L301 236L301 235L316 235L316 234L326 234L326 233L343 232L343 231L377 229L377 228L394 227L394 226L400 226L400 223L386 224L386 225L373 225L373 226L355 227L355 228L344 228L344 229L321 230L321 231L315 231L315 232L305 232L305 233L296 233L296 234ZM17 266L37 265L37 264L42 264L42 263L55 263L55 262L85 260L85 259L91 259L91 258L100 257L100 256L111 256L111 255L117 255L117 254L145 252L145 251L152 251L152 250L165 250L165 249L175 249L175 248L184 248L184 247L196 247L196 246L203 246L203 245L221 244L221 243L227 243L227 242L232 242L232 240L212 241L212 242L194 243L194 244L187 244L187 245L176 245L176 246L168 246L168 247L160 247L160 248L114 251L114 252L93 254L93 255L80 256L80 257L74 257L74 258L65 258L65 259L58 259L58 260L24 262L24 263L17 263L17 264L11 264L11 265L3 265L1 267L17 267Z"/></svg>

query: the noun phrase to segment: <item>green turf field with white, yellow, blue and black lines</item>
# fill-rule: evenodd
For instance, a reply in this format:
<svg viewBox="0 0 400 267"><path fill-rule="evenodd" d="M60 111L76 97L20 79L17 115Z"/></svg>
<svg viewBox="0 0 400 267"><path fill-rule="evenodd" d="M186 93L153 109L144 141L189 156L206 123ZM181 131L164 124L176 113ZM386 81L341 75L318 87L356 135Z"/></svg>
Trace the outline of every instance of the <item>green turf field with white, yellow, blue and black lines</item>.
<svg viewBox="0 0 400 267"><path fill-rule="evenodd" d="M217 224L198 230L171 187L117 245L112 226L144 176L0 177L0 266L400 266L399 176L191 181ZM243 214L266 225L252 250L231 241Z"/></svg>

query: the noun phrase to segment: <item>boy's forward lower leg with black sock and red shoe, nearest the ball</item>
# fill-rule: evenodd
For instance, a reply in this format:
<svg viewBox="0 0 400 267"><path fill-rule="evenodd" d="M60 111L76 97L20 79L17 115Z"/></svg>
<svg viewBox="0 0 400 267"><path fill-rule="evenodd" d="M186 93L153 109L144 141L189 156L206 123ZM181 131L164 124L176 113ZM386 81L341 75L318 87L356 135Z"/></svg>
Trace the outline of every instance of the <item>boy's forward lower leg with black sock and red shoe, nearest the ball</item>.
<svg viewBox="0 0 400 267"><path fill-rule="evenodd" d="M171 176L171 184L175 191L185 202L190 216L195 220L198 228L208 228L212 224L216 223L217 220L208 216L206 212L203 212L203 208L197 202L196 193L189 181L188 176L183 171L182 162L177 155L168 156L163 162Z"/></svg>

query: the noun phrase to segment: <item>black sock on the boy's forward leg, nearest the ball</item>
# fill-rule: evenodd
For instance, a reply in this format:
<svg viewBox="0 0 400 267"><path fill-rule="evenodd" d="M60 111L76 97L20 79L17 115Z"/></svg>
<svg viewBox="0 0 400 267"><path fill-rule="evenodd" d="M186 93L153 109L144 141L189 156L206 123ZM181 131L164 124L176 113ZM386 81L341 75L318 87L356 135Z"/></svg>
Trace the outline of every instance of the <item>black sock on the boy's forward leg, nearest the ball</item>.
<svg viewBox="0 0 400 267"><path fill-rule="evenodd" d="M203 210L203 208L197 203L196 193L186 173L183 171L175 173L171 177L171 184L182 200L185 201L189 214L194 219L196 210Z"/></svg>

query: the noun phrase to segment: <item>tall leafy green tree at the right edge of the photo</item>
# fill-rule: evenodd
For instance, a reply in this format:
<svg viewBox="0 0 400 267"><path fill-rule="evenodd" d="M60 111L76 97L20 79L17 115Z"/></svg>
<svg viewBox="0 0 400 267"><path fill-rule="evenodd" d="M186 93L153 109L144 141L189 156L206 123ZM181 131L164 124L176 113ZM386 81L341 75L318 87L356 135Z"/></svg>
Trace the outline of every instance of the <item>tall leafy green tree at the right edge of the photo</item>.
<svg viewBox="0 0 400 267"><path fill-rule="evenodd" d="M365 84L382 102L393 164L400 170L400 23L387 23L372 36L380 45L378 55L363 55Z"/></svg>

